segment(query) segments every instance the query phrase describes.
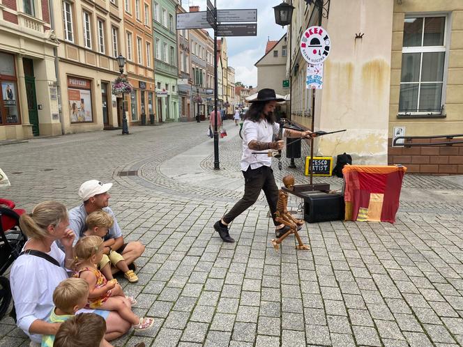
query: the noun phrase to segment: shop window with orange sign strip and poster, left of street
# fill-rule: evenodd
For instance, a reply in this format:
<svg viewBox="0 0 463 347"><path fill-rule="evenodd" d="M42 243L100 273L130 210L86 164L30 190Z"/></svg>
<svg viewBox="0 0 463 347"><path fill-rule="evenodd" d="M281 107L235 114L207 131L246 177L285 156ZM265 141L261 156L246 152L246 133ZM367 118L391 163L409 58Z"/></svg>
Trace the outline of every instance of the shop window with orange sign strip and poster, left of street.
<svg viewBox="0 0 463 347"><path fill-rule="evenodd" d="M89 79L68 77L70 123L93 122L91 94Z"/></svg>

